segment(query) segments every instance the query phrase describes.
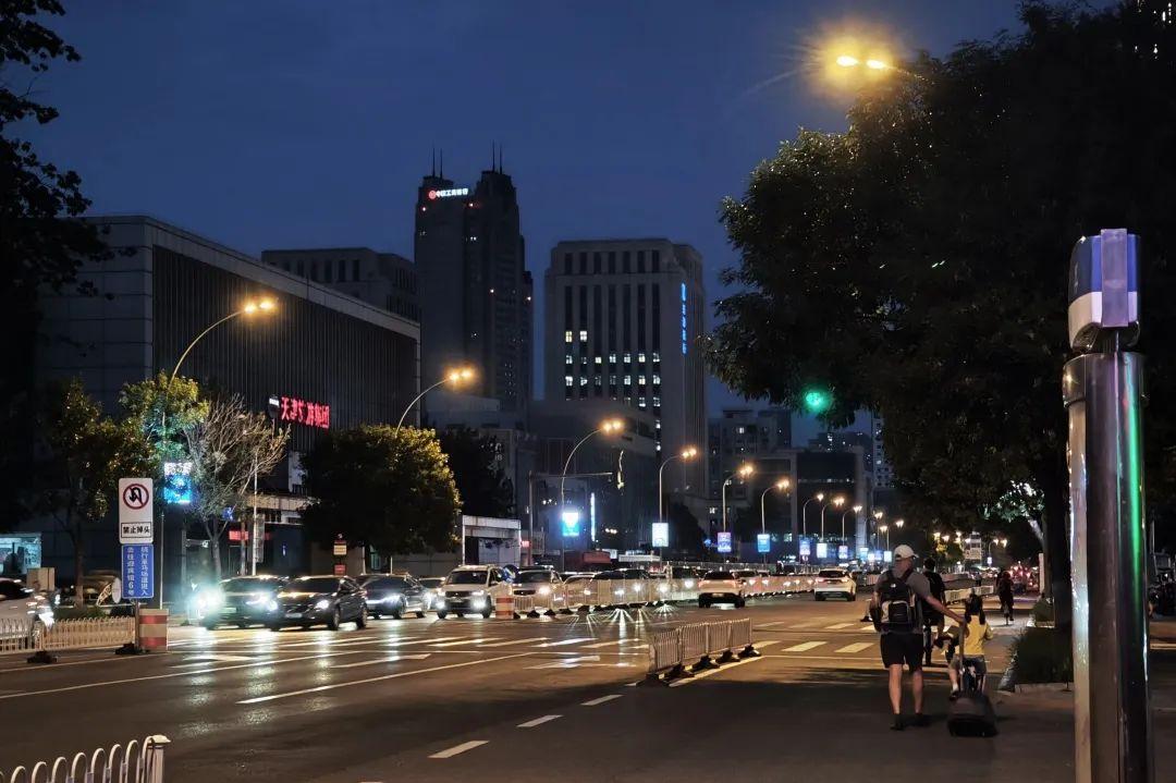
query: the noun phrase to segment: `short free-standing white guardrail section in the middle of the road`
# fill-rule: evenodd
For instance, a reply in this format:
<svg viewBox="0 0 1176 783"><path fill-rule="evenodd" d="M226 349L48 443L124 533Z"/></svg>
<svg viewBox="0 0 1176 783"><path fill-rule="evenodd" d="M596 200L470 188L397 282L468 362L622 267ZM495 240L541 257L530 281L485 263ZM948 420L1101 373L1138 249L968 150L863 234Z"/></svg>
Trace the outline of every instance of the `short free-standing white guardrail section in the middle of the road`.
<svg viewBox="0 0 1176 783"><path fill-rule="evenodd" d="M649 669L644 680L648 684L690 677L695 671L717 668L736 657L760 655L751 643L750 617L688 623L654 631L648 641Z"/></svg>

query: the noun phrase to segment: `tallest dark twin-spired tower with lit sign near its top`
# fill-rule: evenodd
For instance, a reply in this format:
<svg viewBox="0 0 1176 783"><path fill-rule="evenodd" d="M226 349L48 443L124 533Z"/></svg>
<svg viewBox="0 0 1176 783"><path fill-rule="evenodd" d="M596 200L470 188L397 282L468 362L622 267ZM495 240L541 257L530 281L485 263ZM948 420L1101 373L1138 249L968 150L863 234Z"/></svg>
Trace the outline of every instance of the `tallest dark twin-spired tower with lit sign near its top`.
<svg viewBox="0 0 1176 783"><path fill-rule="evenodd" d="M479 373L475 393L522 416L532 397L533 282L519 201L501 163L473 187L434 169L416 192L421 384L459 363Z"/></svg>

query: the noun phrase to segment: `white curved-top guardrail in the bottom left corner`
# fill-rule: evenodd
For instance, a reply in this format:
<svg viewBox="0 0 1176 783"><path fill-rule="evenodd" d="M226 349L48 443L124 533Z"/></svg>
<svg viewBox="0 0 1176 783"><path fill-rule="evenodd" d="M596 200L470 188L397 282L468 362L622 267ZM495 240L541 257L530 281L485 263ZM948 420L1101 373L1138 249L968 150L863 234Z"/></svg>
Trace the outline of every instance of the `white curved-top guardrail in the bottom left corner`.
<svg viewBox="0 0 1176 783"><path fill-rule="evenodd" d="M0 783L163 783L163 749L168 738L162 735L142 742L132 740L126 747L99 748L73 758L58 756L53 762L36 762L32 769L18 767L5 775Z"/></svg>

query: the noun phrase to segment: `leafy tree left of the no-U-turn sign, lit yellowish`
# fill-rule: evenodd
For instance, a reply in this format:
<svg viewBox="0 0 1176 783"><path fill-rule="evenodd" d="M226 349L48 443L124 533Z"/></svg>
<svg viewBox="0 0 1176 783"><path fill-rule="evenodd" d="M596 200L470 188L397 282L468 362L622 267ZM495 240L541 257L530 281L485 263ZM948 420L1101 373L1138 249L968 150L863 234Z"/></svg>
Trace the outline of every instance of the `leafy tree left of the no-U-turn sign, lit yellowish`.
<svg viewBox="0 0 1176 783"><path fill-rule="evenodd" d="M80 608L87 526L106 518L119 478L152 475L152 449L135 427L103 416L76 379L45 389L34 424L34 480L21 496L29 513L52 516L69 538Z"/></svg>

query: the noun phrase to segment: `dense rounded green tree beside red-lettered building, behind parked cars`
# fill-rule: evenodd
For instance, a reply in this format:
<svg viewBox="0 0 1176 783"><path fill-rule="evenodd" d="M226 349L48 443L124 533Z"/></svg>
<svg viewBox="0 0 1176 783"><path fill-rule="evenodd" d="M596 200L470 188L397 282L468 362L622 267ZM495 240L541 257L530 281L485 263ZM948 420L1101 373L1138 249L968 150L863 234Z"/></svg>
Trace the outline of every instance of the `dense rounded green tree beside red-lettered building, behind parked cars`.
<svg viewBox="0 0 1176 783"><path fill-rule="evenodd" d="M388 555L456 543L461 501L436 434L385 424L328 433L302 460L314 498L302 521L322 544L349 544Z"/></svg>

